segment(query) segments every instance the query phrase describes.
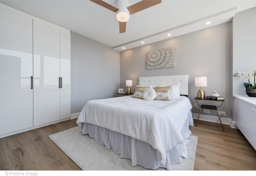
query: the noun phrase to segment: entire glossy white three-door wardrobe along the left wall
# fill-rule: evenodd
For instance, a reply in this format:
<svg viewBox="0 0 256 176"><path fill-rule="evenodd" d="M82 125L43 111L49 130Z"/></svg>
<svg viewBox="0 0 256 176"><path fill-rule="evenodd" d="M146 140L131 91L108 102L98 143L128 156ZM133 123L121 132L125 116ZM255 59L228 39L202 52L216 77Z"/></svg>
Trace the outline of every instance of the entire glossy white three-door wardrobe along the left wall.
<svg viewBox="0 0 256 176"><path fill-rule="evenodd" d="M69 119L70 31L0 4L0 138Z"/></svg>

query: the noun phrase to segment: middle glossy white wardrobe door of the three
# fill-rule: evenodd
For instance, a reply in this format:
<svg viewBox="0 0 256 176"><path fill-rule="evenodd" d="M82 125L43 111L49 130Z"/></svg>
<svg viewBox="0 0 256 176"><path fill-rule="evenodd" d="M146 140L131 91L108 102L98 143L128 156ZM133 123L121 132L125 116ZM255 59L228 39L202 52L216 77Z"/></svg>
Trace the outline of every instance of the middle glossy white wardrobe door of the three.
<svg viewBox="0 0 256 176"><path fill-rule="evenodd" d="M34 126L60 120L60 29L33 20Z"/></svg>

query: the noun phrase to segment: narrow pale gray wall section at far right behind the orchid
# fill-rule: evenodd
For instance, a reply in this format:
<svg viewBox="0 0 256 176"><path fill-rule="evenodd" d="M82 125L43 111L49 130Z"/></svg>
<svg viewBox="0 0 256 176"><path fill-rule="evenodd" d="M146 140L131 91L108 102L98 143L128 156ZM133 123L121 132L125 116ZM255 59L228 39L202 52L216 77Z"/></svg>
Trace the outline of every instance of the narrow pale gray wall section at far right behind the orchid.
<svg viewBox="0 0 256 176"><path fill-rule="evenodd" d="M233 74L252 73L256 68L256 7L236 13L233 18ZM233 95L246 95L244 82L233 78ZM251 78L250 83L254 81Z"/></svg>

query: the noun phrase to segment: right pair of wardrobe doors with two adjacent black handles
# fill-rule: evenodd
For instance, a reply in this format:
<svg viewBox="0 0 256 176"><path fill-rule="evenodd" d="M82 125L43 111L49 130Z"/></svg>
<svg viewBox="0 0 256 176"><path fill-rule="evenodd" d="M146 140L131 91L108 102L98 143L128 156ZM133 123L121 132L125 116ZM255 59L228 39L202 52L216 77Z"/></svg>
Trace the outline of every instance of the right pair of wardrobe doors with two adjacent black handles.
<svg viewBox="0 0 256 176"><path fill-rule="evenodd" d="M33 20L34 126L70 118L70 32Z"/></svg>

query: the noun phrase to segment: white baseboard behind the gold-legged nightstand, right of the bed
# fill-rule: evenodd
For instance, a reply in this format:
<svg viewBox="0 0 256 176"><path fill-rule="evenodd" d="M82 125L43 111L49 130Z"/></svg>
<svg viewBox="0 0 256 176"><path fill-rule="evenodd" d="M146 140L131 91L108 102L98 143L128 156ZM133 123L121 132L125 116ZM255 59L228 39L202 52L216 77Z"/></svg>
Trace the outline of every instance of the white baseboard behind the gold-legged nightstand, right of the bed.
<svg viewBox="0 0 256 176"><path fill-rule="evenodd" d="M198 114L192 113L192 117L193 117L193 119L197 120ZM220 119L221 119L222 124L230 125L231 128L238 129L235 122L232 119L225 118L223 116L220 117ZM203 120L203 121L206 121L206 122L215 122L215 123L220 124L218 116L208 116L208 115L200 114L200 119L199 120Z"/></svg>

